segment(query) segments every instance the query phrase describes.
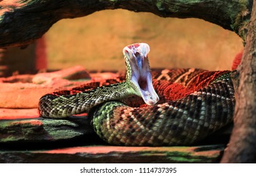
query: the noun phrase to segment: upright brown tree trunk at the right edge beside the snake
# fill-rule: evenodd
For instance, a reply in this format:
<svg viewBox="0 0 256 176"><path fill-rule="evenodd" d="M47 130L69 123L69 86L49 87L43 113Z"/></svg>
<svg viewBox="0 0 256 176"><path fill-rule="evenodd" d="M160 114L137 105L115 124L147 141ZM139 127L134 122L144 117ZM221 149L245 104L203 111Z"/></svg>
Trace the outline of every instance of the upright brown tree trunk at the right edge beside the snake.
<svg viewBox="0 0 256 176"><path fill-rule="evenodd" d="M234 74L236 109L230 145L221 162L256 162L256 1L247 25L248 35L238 72Z"/></svg>

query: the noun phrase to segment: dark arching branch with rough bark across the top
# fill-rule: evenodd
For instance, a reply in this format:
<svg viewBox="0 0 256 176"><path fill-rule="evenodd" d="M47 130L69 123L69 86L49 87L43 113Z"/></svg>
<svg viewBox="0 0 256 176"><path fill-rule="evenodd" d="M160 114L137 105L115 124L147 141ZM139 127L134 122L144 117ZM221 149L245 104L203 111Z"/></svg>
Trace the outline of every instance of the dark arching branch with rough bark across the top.
<svg viewBox="0 0 256 176"><path fill-rule="evenodd" d="M151 12L162 17L201 18L240 36L253 0L4 0L0 1L0 47L24 46L40 38L63 18L76 18L103 9Z"/></svg>

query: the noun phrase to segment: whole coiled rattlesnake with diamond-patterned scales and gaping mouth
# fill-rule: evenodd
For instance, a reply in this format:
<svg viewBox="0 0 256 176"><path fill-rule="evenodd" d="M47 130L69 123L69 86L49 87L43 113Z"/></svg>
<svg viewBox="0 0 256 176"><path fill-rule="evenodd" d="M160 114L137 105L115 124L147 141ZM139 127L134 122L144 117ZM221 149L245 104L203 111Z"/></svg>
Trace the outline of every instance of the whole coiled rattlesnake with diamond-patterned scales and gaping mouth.
<svg viewBox="0 0 256 176"><path fill-rule="evenodd" d="M100 138L125 146L192 145L233 121L231 71L151 74L148 52L146 43L125 47L125 81L46 94L38 105L40 115L66 118L87 112Z"/></svg>

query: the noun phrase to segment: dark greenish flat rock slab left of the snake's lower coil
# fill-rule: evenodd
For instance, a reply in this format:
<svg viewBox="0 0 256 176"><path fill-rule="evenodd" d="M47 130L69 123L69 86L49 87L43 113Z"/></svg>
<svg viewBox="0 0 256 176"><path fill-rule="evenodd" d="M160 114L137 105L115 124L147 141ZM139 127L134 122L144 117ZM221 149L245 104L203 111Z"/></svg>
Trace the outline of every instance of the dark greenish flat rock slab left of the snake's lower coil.
<svg viewBox="0 0 256 176"><path fill-rule="evenodd" d="M0 143L52 142L73 140L90 135L93 129L86 116L74 116L66 119L16 119L1 120Z"/></svg>

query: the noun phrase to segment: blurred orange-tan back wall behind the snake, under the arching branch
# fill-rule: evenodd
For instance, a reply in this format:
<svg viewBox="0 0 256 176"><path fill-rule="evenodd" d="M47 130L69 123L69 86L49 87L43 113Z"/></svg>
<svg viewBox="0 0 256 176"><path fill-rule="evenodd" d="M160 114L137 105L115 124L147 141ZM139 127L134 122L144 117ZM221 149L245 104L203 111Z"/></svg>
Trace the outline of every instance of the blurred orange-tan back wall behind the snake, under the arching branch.
<svg viewBox="0 0 256 176"><path fill-rule="evenodd" d="M0 50L0 75L59 70L125 70L122 49L148 43L153 68L197 67L230 70L243 50L235 33L202 19L160 18L151 13L107 10L62 19L25 50Z"/></svg>

